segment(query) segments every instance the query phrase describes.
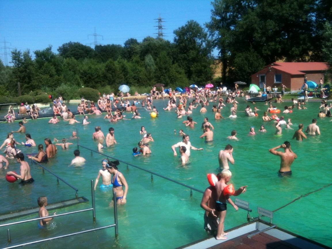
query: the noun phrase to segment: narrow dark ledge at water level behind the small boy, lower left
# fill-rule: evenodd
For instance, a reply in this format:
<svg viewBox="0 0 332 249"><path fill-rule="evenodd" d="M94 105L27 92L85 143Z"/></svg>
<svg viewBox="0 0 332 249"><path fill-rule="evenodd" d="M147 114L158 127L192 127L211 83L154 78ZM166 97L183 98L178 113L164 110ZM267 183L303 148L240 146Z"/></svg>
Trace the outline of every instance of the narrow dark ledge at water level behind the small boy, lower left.
<svg viewBox="0 0 332 249"><path fill-rule="evenodd" d="M61 201L61 202L56 202L53 204L48 204L47 210L58 209L58 208L62 208L62 207L69 207L72 205L85 203L85 202L89 202L89 200L83 196L77 197L74 199L69 199L69 200L65 200L65 201ZM38 214L38 211L39 211L39 207L33 207L30 209L24 209L24 210L11 212L11 213L0 214L0 222L4 221L4 220L8 220L8 219L14 219L14 218L30 215L30 214Z"/></svg>

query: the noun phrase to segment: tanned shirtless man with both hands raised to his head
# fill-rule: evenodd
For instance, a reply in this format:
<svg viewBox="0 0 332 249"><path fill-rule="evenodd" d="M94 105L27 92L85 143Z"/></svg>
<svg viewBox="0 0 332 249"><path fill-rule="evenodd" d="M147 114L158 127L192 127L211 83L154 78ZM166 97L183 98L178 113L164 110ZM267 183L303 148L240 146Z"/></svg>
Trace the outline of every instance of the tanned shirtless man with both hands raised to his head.
<svg viewBox="0 0 332 249"><path fill-rule="evenodd" d="M277 149L284 148L285 152L277 151ZM280 170L281 176L291 175L290 165L297 158L297 155L291 150L290 142L285 141L282 145L269 149L269 152L280 156Z"/></svg>

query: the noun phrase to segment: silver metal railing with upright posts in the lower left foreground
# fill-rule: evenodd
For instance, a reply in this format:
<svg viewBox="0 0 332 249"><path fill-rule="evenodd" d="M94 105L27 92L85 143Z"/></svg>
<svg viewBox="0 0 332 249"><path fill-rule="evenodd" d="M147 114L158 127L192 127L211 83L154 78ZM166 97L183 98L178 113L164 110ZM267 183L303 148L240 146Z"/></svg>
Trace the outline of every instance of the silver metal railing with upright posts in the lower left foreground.
<svg viewBox="0 0 332 249"><path fill-rule="evenodd" d="M70 236L74 236L74 235L78 235L78 234L82 234L82 233L87 233L87 232L92 232L92 231L97 231L97 230L101 230L101 229L106 229L106 228L110 228L110 227L115 227L115 236L117 237L119 235L119 230L118 230L118 215L117 215L118 214L118 210L117 210L116 199L117 199L117 194L115 192L113 192L114 224L107 225L107 226L102 226L102 227L98 227L98 228L93 228L93 229L85 230L85 231L81 231L81 232L75 232L75 233L60 235L60 236L57 236L57 237L36 240L36 241L24 243L24 244L9 246L9 247L5 247L5 248L2 248L2 249L10 249L10 248L16 248L16 247L21 247L21 246L26 246L26 245L33 245L33 244L37 244L37 243L41 243L41 242L45 242L45 241L49 241L49 240L70 237ZM79 212L85 212L85 211L92 210L93 221L95 222L96 221L96 210L95 210L96 207L95 207L95 192L94 192L94 183L93 183L93 180L91 180L91 200L92 200L92 207L91 208L77 210L77 211L72 211L72 212L67 212L67 213L49 215L49 216L47 216L47 218L65 216L65 215L68 215L68 214L74 214L74 213L79 213ZM36 221L36 220L42 220L42 219L45 219L45 218L46 217L34 218L34 219L29 219L29 220L21 220L21 221L17 221L17 222L2 224L2 225L0 225L0 227L11 226L11 225L16 225L16 224L22 224L22 223L32 222L32 221ZM10 229L7 229L7 237L8 237L8 242L11 242L12 239L11 239L11 235L10 235Z"/></svg>

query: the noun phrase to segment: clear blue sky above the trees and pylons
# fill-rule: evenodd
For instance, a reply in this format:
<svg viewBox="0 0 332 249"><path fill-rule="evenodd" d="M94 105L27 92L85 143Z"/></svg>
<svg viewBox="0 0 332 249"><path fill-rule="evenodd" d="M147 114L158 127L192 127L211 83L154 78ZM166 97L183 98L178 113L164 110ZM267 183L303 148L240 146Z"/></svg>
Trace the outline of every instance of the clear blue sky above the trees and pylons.
<svg viewBox="0 0 332 249"><path fill-rule="evenodd" d="M173 31L195 20L202 26L210 20L211 0L1 0L0 53L4 60L4 39L7 47L19 50L53 51L65 42L94 42L96 33L101 44L121 44L129 38L142 41L156 36L155 23L164 18L164 37L173 41ZM8 62L11 60L7 49Z"/></svg>

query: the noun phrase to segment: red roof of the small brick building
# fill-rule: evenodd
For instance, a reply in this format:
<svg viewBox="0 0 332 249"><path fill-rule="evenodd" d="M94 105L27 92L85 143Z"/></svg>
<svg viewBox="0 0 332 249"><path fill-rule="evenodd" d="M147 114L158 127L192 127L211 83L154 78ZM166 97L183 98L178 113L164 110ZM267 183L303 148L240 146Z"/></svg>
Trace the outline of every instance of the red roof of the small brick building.
<svg viewBox="0 0 332 249"><path fill-rule="evenodd" d="M272 65L273 64L273 65ZM271 66L289 74L305 74L305 71L324 71L328 69L326 62L274 62Z"/></svg>

